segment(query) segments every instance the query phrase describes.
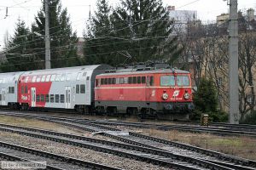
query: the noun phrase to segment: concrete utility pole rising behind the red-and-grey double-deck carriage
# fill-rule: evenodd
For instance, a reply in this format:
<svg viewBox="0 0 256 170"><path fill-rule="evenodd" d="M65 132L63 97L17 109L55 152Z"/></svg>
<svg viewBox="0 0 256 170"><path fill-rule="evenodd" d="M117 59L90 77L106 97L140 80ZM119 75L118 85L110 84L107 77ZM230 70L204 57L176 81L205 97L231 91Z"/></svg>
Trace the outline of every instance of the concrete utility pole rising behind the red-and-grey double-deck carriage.
<svg viewBox="0 0 256 170"><path fill-rule="evenodd" d="M50 69L49 0L45 0L45 69Z"/></svg>

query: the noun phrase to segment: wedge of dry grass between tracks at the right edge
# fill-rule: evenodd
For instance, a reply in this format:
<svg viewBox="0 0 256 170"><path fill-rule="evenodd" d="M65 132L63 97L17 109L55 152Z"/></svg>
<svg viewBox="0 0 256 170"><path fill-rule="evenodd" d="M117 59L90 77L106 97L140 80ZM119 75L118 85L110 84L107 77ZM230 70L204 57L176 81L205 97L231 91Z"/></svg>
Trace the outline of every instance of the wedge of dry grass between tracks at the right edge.
<svg viewBox="0 0 256 170"><path fill-rule="evenodd" d="M144 134L172 141L192 144L208 150L217 150L233 156L256 160L256 139L248 137L226 137L210 133L183 133L177 130L159 131L144 129Z"/></svg>

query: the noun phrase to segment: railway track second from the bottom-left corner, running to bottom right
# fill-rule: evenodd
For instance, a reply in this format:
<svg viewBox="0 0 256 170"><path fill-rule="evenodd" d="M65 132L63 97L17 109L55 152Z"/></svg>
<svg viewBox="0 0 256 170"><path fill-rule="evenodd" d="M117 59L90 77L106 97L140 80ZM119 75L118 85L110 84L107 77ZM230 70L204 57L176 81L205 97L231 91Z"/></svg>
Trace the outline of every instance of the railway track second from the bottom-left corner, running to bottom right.
<svg viewBox="0 0 256 170"><path fill-rule="evenodd" d="M30 127L17 127L6 124L1 124L0 130L11 133L19 133L39 139L48 139L64 144L72 144L96 151L129 157L140 161L148 161L165 167L174 167L178 169L231 169L229 167L215 164L216 162L203 161L201 159L189 158L188 156L175 155L165 150L148 149L137 145L91 139L67 133L58 133ZM235 165L229 166L237 167Z"/></svg>

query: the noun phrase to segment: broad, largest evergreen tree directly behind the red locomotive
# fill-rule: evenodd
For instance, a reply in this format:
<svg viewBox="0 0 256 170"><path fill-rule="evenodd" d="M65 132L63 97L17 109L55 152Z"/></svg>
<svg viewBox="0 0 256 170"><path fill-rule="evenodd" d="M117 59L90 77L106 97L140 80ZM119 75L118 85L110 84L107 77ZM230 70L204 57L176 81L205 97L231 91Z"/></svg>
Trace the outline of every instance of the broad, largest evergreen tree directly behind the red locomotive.
<svg viewBox="0 0 256 170"><path fill-rule="evenodd" d="M161 0L122 0L113 12L114 37L119 49L127 51L137 61L177 59L182 48L172 37L172 20Z"/></svg>

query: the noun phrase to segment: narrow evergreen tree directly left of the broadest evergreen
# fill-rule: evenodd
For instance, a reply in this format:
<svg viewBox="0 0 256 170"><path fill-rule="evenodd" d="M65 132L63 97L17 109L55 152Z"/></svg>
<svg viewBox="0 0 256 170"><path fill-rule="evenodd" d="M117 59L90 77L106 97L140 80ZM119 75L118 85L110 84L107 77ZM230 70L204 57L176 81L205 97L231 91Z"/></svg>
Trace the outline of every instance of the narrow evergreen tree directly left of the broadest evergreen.
<svg viewBox="0 0 256 170"><path fill-rule="evenodd" d="M106 0L98 0L97 11L88 22L87 32L84 34L84 56L86 64L113 64L113 38L111 34L110 10Z"/></svg>

